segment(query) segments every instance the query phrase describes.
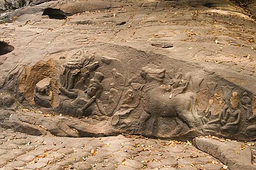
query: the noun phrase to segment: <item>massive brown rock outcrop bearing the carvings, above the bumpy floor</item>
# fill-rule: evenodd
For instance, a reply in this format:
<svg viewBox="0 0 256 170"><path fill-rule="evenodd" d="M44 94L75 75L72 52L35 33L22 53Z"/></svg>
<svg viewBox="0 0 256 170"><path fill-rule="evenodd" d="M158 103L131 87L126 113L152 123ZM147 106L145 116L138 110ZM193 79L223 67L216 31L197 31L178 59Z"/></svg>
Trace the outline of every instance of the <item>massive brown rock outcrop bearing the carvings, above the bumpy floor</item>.
<svg viewBox="0 0 256 170"><path fill-rule="evenodd" d="M256 139L256 27L231 1L60 0L4 18L1 126Z"/></svg>

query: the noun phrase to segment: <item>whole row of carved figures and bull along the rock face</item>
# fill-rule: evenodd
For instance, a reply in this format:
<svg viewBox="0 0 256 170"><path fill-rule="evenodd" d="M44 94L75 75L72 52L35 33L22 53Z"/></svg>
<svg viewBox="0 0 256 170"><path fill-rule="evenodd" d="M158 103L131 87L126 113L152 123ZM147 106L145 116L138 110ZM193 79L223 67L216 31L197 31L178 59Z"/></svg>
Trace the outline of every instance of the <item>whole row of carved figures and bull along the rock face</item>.
<svg viewBox="0 0 256 170"><path fill-rule="evenodd" d="M63 115L110 120L115 129L131 134L256 135L256 100L248 92L219 82L206 81L201 88L204 77L181 69L150 65L129 75L111 66L113 58L81 55L76 52L60 76L58 110ZM105 67L110 69L99 71ZM52 107L51 78L36 84L34 100Z"/></svg>

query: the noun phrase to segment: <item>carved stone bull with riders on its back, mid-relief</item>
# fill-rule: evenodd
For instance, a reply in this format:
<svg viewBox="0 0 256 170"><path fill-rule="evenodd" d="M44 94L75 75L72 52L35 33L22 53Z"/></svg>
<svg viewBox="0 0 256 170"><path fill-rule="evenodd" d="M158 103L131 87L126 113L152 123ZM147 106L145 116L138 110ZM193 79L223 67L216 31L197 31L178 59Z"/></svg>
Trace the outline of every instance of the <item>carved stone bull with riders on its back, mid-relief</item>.
<svg viewBox="0 0 256 170"><path fill-rule="evenodd" d="M121 110L115 112L112 124L117 128L136 125L137 132L147 135L165 133L177 136L188 133L189 128L195 126L191 112L195 94L186 92L190 74L176 72L170 78L166 76L165 69L143 67L140 77L141 82L140 78L137 78L137 82L136 78L130 81L130 87L122 99ZM133 124L127 122L127 115L131 112L141 115L133 120ZM161 129L166 129L166 125L170 125L168 134L161 132Z"/></svg>

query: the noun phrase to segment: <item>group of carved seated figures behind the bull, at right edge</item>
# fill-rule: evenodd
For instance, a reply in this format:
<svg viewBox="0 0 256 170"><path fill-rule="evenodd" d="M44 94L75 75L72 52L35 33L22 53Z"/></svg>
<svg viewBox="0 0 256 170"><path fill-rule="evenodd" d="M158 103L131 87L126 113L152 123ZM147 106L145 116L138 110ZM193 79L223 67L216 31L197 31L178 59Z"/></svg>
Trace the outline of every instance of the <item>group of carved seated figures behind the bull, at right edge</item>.
<svg viewBox="0 0 256 170"><path fill-rule="evenodd" d="M207 87L209 88L209 84L207 84ZM210 89L211 88L209 88L209 91L212 95L212 90ZM245 131L249 139L254 139L256 135L256 125L253 125L253 122L256 115L253 114L253 103L255 101L252 102L252 99L247 92L238 90L241 92L238 94L233 86L221 86L221 91L222 93L219 97L217 96L217 93L214 93L214 98L219 98L220 104L223 99L222 110L219 112L217 118L211 119L212 110L210 108L216 105L213 104L215 99L210 99L209 104L205 104L206 109L203 110L204 115L202 117L203 132L233 137L231 135L244 135ZM255 105L256 102L254 103L254 106Z"/></svg>

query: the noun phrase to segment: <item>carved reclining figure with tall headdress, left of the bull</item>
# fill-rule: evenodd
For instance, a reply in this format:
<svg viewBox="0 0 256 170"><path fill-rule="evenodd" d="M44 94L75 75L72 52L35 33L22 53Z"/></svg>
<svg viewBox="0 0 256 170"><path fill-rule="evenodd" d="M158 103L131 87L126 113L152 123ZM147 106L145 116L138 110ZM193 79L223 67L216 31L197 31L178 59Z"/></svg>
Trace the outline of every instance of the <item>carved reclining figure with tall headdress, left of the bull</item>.
<svg viewBox="0 0 256 170"><path fill-rule="evenodd" d="M74 101L65 100L62 103L61 110L66 115L73 115L75 117L89 116L94 117L106 115L105 110L99 100L100 94L103 90L101 81L103 74L101 72L95 72L95 75L90 79L89 86L86 91L79 90L76 92L69 92L70 96L76 96Z"/></svg>

